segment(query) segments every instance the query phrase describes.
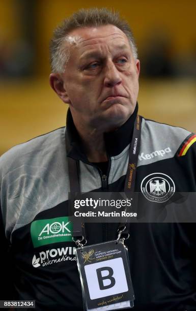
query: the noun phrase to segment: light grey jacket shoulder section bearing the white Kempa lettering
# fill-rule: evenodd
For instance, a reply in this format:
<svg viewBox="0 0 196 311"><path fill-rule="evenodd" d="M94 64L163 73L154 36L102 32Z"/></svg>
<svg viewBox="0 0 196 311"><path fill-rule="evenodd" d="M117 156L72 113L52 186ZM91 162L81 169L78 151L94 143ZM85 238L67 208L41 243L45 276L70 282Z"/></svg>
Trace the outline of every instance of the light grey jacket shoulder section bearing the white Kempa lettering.
<svg viewBox="0 0 196 311"><path fill-rule="evenodd" d="M179 157L187 151L195 153L195 142L196 135L183 128L142 117L139 164Z"/></svg>

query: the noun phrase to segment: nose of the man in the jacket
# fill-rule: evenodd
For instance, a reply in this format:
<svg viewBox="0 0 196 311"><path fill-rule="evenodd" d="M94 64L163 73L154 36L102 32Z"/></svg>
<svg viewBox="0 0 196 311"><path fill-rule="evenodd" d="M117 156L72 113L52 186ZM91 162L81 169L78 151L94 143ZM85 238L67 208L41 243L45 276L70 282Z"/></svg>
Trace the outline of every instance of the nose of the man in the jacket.
<svg viewBox="0 0 196 311"><path fill-rule="evenodd" d="M104 85L107 87L114 87L115 85L121 84L121 82L120 72L115 64L113 62L107 64L105 66Z"/></svg>

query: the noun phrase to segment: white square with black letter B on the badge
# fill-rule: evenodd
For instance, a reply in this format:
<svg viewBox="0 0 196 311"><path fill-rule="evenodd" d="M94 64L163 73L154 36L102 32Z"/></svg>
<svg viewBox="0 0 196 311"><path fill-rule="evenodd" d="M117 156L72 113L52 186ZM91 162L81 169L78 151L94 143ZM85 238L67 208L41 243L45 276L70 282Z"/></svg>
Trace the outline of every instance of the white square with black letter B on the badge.
<svg viewBox="0 0 196 311"><path fill-rule="evenodd" d="M122 258L115 258L85 266L91 299L128 291Z"/></svg>

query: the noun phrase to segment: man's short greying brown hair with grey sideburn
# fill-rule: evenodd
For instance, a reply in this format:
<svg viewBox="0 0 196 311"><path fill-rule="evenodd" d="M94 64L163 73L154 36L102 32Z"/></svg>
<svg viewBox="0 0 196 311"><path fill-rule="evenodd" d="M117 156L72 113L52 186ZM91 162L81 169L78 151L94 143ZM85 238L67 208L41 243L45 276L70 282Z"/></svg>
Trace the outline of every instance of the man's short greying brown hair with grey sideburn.
<svg viewBox="0 0 196 311"><path fill-rule="evenodd" d="M132 31L127 21L119 17L119 13L111 12L108 9L91 8L81 9L75 12L69 18L63 20L53 33L53 38L50 41L50 64L53 73L63 73L65 65L69 59L69 45L66 44L69 33L77 28L115 25L127 36L132 48L133 57L137 58L137 48L133 38Z"/></svg>

